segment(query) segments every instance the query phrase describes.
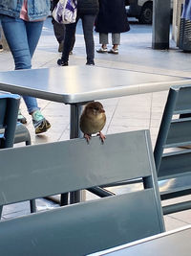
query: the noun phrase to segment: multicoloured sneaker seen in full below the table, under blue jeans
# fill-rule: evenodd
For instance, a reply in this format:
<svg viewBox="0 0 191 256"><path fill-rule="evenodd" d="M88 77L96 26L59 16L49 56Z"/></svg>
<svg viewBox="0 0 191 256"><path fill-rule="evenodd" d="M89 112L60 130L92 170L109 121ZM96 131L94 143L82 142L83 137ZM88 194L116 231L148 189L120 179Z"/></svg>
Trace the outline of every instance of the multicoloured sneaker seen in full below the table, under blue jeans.
<svg viewBox="0 0 191 256"><path fill-rule="evenodd" d="M51 124L44 118L40 110L36 110L32 113L32 124L35 128L35 134L43 133L51 128Z"/></svg>

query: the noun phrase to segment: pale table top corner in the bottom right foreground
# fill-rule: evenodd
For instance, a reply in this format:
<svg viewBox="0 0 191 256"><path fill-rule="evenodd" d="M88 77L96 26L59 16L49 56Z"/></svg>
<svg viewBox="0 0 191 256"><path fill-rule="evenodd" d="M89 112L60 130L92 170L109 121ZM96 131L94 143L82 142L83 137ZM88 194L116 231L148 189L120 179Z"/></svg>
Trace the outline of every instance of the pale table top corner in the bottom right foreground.
<svg viewBox="0 0 191 256"><path fill-rule="evenodd" d="M191 254L191 225L164 232L156 236L124 244L91 256L190 256Z"/></svg>

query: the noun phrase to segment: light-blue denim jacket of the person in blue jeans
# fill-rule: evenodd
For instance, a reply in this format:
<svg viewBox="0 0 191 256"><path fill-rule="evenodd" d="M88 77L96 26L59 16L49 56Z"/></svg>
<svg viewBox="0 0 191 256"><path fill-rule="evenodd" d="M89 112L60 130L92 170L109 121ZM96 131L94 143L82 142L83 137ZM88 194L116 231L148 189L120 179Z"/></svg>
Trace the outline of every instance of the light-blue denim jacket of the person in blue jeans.
<svg viewBox="0 0 191 256"><path fill-rule="evenodd" d="M24 0L1 0L0 14L19 18ZM50 0L28 0L29 19L36 20L47 17L50 14Z"/></svg>

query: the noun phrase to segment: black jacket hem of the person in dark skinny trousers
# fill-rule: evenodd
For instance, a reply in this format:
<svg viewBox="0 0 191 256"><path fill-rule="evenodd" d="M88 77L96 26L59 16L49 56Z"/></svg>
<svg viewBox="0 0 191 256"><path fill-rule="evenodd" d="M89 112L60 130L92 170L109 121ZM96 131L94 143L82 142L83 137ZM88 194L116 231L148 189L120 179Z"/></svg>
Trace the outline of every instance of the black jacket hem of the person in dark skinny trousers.
<svg viewBox="0 0 191 256"><path fill-rule="evenodd" d="M77 0L78 14L96 15L99 10L98 0Z"/></svg>

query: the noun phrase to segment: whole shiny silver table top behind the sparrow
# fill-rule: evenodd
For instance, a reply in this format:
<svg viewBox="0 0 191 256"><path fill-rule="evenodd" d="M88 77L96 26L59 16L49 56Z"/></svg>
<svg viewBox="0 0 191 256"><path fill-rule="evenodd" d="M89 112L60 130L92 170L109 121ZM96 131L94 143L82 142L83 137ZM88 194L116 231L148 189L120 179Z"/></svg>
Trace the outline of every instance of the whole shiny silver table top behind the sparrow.
<svg viewBox="0 0 191 256"><path fill-rule="evenodd" d="M0 72L0 90L75 104L166 90L187 78L96 66L67 66Z"/></svg>

